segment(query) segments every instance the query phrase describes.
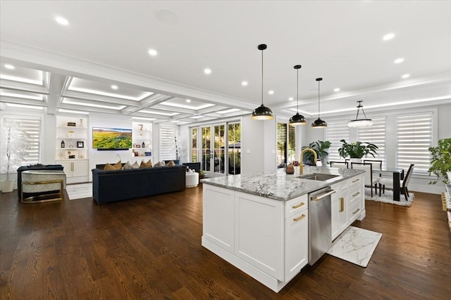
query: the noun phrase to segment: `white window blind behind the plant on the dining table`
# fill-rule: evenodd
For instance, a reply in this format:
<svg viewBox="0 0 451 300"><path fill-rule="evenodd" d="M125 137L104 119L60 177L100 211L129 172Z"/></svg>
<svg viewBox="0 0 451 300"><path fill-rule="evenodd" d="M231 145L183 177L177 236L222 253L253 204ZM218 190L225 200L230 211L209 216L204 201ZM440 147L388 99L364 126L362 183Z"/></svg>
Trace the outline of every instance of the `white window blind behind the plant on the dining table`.
<svg viewBox="0 0 451 300"><path fill-rule="evenodd" d="M364 157L364 159L382 160L382 167L385 168L385 117L373 118L373 125L368 127L359 127L357 129L357 141L373 143L378 146L378 155Z"/></svg>

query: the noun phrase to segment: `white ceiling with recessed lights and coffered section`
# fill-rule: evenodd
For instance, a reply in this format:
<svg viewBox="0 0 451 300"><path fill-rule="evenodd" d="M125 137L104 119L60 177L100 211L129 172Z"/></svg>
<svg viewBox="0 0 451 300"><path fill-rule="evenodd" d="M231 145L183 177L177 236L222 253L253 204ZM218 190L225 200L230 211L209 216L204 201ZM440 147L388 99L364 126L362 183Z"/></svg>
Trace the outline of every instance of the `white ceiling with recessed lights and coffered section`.
<svg viewBox="0 0 451 300"><path fill-rule="evenodd" d="M451 103L451 1L2 0L0 39L3 108L178 124L249 114L261 103L259 44L268 45L264 104L279 116L296 111L294 65L299 112L311 121L317 77L321 116L354 113L357 100L367 115Z"/></svg>

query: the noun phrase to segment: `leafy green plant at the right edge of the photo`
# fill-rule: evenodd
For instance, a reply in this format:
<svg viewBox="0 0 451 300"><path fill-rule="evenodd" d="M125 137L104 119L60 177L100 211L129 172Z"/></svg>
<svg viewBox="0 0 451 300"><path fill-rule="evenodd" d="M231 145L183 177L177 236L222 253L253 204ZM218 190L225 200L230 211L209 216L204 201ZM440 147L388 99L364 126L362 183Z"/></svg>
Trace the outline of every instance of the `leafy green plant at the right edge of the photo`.
<svg viewBox="0 0 451 300"><path fill-rule="evenodd" d="M428 169L429 176L435 174L437 178L443 177L443 183L451 179L451 138L442 138L438 140L437 147L430 147L431 167ZM437 181L431 181L429 184L435 184Z"/></svg>

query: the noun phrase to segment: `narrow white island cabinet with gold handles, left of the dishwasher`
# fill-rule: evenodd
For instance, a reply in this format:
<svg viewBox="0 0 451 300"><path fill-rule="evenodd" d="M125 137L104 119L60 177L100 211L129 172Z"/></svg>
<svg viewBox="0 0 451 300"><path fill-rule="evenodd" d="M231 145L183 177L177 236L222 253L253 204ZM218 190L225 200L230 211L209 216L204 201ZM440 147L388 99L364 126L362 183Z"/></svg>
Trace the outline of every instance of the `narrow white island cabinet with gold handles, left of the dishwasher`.
<svg viewBox="0 0 451 300"><path fill-rule="evenodd" d="M285 203L285 282L295 277L309 259L307 204L307 195Z"/></svg>

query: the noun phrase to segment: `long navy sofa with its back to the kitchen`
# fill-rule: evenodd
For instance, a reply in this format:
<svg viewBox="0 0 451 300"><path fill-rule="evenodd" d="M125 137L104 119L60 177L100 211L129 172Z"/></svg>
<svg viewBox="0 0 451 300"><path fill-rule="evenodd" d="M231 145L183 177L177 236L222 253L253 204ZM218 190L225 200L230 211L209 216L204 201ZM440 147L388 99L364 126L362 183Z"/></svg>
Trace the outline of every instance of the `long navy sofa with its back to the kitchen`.
<svg viewBox="0 0 451 300"><path fill-rule="evenodd" d="M97 204L185 190L186 167L104 171L92 169L92 197Z"/></svg>

